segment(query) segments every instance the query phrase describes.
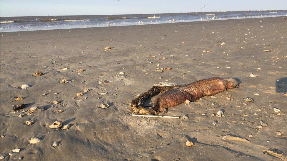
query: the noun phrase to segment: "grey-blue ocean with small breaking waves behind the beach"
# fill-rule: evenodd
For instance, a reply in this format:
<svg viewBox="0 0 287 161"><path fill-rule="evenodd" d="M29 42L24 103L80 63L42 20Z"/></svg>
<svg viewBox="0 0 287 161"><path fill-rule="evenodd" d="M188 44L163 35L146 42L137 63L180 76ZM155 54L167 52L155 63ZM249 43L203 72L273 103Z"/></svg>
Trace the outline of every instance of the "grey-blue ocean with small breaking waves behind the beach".
<svg viewBox="0 0 287 161"><path fill-rule="evenodd" d="M226 19L228 20L238 18L262 18L286 15L287 10L191 12L130 15L1 17L0 32L146 25L193 21L217 21Z"/></svg>

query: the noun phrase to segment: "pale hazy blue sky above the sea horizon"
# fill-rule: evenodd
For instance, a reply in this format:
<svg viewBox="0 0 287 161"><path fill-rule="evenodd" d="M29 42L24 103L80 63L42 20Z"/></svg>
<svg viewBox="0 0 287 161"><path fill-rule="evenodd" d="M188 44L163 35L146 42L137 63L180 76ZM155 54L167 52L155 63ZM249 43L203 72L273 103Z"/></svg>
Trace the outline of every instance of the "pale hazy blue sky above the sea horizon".
<svg viewBox="0 0 287 161"><path fill-rule="evenodd" d="M287 9L287 0L1 0L0 3L1 17Z"/></svg>

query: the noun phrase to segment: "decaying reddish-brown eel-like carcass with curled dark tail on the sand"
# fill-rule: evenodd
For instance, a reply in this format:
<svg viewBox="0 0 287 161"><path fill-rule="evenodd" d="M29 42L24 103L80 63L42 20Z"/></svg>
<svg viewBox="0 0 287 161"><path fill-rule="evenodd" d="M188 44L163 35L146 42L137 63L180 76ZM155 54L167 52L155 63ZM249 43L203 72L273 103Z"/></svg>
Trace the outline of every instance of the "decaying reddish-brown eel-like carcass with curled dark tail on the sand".
<svg viewBox="0 0 287 161"><path fill-rule="evenodd" d="M239 82L237 82L234 78L221 77L202 79L184 86L177 85L169 88L153 86L153 88L151 88L149 91L141 94L131 102L131 109L132 113L134 114L156 115L158 114L156 111L166 112L169 107L182 104L186 100L194 102L203 96L215 95L227 89L237 87L239 87ZM158 95L158 97L154 100L153 107L150 109L145 109L139 106L139 101L144 101L146 98L156 94L160 95Z"/></svg>

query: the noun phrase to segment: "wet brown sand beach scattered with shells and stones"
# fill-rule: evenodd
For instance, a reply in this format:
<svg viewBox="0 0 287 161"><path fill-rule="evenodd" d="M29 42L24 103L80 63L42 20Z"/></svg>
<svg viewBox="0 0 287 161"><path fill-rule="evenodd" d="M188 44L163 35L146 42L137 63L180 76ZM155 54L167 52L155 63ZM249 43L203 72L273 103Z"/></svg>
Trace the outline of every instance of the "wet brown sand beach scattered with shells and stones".
<svg viewBox="0 0 287 161"><path fill-rule="evenodd" d="M279 160L263 150L286 158L286 30L287 19L275 17L1 33L3 160ZM36 71L44 74L34 77ZM130 101L156 82L210 77L235 77L241 84L164 114L186 120L131 116ZM27 104L24 111L13 111L19 103ZM98 108L103 103L110 107ZM27 115L32 106L46 110ZM225 117L212 116L221 109ZM27 120L35 123L27 126ZM56 120L72 126L49 128ZM258 130L261 120L268 125ZM226 135L249 141L223 140ZM32 137L42 141L30 144ZM187 140L194 144L187 147ZM52 146L55 141L59 146Z"/></svg>

